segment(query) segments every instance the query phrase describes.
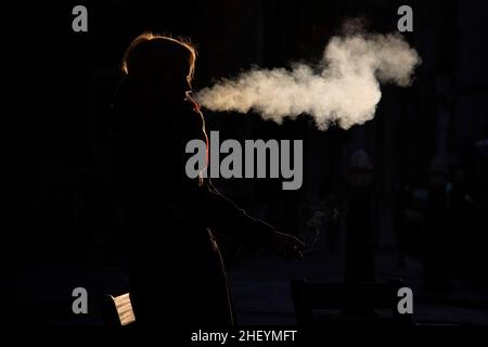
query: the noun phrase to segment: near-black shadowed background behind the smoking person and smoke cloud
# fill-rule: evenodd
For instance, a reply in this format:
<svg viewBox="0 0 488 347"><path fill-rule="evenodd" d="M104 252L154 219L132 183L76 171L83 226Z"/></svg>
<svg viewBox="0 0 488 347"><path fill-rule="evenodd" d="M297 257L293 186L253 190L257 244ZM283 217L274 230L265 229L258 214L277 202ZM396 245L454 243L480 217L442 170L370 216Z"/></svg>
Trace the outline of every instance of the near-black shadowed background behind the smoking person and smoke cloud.
<svg viewBox="0 0 488 347"><path fill-rule="evenodd" d="M404 36L423 63L412 87L383 88L374 120L321 132L307 115L279 126L254 114L205 112L208 127L220 130L221 138L304 140L299 191L282 191L281 180L217 181L236 203L306 241L318 210L339 211L320 226L316 247L299 265L266 253L235 256L237 245L227 242L237 313L246 323L293 323L291 278L343 281L348 168L361 149L374 177L375 278L403 278L423 298L420 321L488 324L486 2L13 3L1 5L0 73L2 293L11 322L102 324L98 300L128 291L110 130L120 60L134 36L153 30L191 38L200 52L198 90L252 65L317 62L347 17L362 17L373 31L396 31L397 9L410 4L414 30ZM88 33L72 30L76 4L88 8ZM428 182L439 170L450 182L449 197L446 220L433 226L426 222ZM184 245L174 246L182 249L179 260L184 261ZM442 279L428 290L425 269L432 258ZM155 292L176 285L164 274L160 279ZM90 294L87 316L70 310L77 286Z"/></svg>

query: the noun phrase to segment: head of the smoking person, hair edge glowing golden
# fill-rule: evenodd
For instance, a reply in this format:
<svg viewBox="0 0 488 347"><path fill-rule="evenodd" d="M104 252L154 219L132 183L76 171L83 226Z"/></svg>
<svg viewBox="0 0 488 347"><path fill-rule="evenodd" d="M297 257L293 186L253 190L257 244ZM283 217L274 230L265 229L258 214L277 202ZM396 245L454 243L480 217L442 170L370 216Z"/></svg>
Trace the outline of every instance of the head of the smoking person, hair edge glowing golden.
<svg viewBox="0 0 488 347"><path fill-rule="evenodd" d="M124 54L123 73L152 95L180 101L191 90L196 50L181 39L144 33Z"/></svg>

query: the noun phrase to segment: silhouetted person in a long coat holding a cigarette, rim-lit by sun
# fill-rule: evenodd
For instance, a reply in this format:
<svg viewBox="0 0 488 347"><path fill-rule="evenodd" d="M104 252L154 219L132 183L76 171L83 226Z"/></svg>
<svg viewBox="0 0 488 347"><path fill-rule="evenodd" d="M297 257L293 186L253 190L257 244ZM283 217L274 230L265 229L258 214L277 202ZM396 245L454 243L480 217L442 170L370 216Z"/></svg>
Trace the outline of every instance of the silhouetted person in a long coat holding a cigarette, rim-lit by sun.
<svg viewBox="0 0 488 347"><path fill-rule="evenodd" d="M210 228L284 257L301 256L296 237L247 216L208 179L188 178L187 143L202 139L208 149L203 115L189 97L195 56L187 42L139 36L126 51L114 103L114 177L130 229L130 291L139 325L164 318L194 327L234 323Z"/></svg>

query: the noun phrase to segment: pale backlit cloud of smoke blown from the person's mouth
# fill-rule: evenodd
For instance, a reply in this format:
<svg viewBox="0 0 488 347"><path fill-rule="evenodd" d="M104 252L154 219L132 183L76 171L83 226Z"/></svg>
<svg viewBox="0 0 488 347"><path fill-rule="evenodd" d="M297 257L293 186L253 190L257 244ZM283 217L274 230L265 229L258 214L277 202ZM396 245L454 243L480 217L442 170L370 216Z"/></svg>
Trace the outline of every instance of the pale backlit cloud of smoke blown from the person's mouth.
<svg viewBox="0 0 488 347"><path fill-rule="evenodd" d="M347 129L374 117L380 82L407 87L419 63L400 35L336 36L316 66L254 68L202 89L195 99L211 111L254 111L277 123L309 114L322 130L331 124Z"/></svg>

